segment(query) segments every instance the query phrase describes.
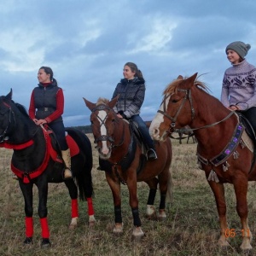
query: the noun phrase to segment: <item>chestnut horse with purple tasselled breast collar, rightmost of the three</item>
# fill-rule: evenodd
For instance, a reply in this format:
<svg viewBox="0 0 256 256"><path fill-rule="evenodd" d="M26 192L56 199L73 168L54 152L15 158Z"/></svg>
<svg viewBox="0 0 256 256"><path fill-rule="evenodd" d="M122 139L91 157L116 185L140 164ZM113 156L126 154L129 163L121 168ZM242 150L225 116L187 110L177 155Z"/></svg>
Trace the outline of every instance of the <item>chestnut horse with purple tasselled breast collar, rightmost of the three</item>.
<svg viewBox="0 0 256 256"><path fill-rule="evenodd" d="M253 145L248 139L239 116L231 112L207 87L196 80L179 76L164 90L164 98L149 131L158 141L164 141L172 131L189 125L197 140L200 168L215 196L220 222L218 244L227 246L230 233L226 218L224 183L232 183L236 193L236 210L244 230L241 249L251 249L252 234L247 224L248 181L256 179ZM234 228L234 227L232 227Z"/></svg>

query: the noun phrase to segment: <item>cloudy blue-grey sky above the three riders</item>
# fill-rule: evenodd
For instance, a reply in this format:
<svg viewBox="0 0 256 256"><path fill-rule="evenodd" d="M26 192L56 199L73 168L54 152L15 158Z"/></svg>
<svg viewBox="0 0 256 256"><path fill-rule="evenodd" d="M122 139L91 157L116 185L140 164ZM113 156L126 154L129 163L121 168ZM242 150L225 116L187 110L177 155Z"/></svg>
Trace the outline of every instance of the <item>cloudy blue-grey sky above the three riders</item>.
<svg viewBox="0 0 256 256"><path fill-rule="evenodd" d="M198 73L219 99L228 44L251 44L256 66L255 11L255 0L0 0L0 96L12 89L28 109L48 66L64 92L64 125L90 125L83 97L111 99L131 61L146 80L145 121L178 75Z"/></svg>

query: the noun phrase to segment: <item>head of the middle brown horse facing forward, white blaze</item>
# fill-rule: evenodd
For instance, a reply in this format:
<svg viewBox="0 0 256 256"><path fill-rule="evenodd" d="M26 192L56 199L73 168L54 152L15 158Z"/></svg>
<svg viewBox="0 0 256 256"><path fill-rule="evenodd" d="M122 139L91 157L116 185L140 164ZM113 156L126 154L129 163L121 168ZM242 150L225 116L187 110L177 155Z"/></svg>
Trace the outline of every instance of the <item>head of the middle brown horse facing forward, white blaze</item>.
<svg viewBox="0 0 256 256"><path fill-rule="evenodd" d="M84 99L85 105L90 109L90 124L94 143L103 160L109 159L112 149L117 146L116 143L122 143L119 140L120 129L119 125L122 122L117 114L113 111L114 106L119 96L113 98L112 101L108 99L99 98L96 103L89 102Z"/></svg>

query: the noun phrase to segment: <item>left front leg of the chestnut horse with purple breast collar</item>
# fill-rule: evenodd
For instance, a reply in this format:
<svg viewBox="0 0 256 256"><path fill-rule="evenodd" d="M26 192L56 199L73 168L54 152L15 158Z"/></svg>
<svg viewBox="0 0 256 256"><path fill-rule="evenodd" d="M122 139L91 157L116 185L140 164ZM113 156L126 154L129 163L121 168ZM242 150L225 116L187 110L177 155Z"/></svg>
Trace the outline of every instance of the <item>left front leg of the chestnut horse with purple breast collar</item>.
<svg viewBox="0 0 256 256"><path fill-rule="evenodd" d="M221 247L226 247L229 245L227 241L227 236L225 234L228 229L227 218L226 218L226 202L224 197L224 184L216 183L213 181L208 181L212 192L215 196L215 201L218 210L218 219L220 224L220 237L218 239L218 245Z"/></svg>

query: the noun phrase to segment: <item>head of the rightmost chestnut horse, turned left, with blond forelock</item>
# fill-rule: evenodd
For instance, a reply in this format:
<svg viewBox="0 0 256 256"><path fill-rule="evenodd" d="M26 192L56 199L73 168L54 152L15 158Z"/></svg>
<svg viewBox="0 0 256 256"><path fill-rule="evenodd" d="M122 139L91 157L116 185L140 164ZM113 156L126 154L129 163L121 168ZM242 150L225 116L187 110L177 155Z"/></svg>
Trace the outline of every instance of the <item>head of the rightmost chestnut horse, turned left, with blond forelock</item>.
<svg viewBox="0 0 256 256"><path fill-rule="evenodd" d="M195 118L191 90L197 83L196 77L197 73L189 78L180 75L167 85L160 108L149 127L154 140L166 140L173 131L189 125Z"/></svg>

